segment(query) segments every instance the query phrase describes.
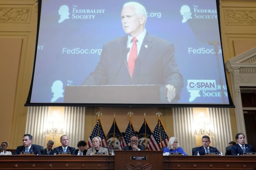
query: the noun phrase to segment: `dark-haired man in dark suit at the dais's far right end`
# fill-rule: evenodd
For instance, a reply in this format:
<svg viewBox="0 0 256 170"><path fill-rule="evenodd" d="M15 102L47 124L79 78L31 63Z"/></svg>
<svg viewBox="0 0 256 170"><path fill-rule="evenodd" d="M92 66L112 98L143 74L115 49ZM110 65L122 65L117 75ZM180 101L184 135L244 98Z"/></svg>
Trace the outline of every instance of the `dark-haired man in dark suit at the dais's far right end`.
<svg viewBox="0 0 256 170"><path fill-rule="evenodd" d="M236 140L238 144L233 145L231 148L232 155L243 155L244 152L255 152L253 147L249 144L245 144L245 136L242 133L236 134Z"/></svg>

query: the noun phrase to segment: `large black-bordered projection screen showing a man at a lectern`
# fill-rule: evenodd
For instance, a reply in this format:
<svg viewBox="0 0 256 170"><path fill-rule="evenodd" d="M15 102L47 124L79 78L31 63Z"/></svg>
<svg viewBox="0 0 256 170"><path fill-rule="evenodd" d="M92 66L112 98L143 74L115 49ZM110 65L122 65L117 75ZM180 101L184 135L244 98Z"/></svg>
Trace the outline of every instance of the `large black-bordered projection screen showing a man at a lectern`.
<svg viewBox="0 0 256 170"><path fill-rule="evenodd" d="M127 2L39 0L26 106L234 107L218 0Z"/></svg>

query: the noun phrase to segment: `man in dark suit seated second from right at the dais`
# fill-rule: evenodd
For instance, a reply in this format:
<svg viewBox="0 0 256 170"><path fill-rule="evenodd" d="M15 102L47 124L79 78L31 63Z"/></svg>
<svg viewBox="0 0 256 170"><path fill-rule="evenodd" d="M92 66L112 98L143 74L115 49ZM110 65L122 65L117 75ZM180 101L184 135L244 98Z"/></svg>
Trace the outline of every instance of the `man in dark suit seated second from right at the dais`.
<svg viewBox="0 0 256 170"><path fill-rule="evenodd" d="M194 155L197 155L197 152L199 153L199 155L206 155L207 152L217 152L218 154L220 154L217 148L210 146L211 141L209 136L203 136L202 143L203 146L197 147Z"/></svg>

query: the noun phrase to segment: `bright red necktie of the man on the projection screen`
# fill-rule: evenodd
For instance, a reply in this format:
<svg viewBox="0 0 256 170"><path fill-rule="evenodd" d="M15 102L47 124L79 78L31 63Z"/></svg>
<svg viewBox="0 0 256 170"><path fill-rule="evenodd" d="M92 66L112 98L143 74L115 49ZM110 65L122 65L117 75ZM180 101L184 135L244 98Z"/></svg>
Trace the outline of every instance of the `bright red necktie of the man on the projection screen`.
<svg viewBox="0 0 256 170"><path fill-rule="evenodd" d="M132 49L130 51L129 58L128 58L128 69L129 69L129 72L131 74L131 77L132 77L132 74L133 74L133 71L134 71L135 61L137 59L137 44L136 44L136 41L137 41L137 38L133 37L132 38Z"/></svg>

